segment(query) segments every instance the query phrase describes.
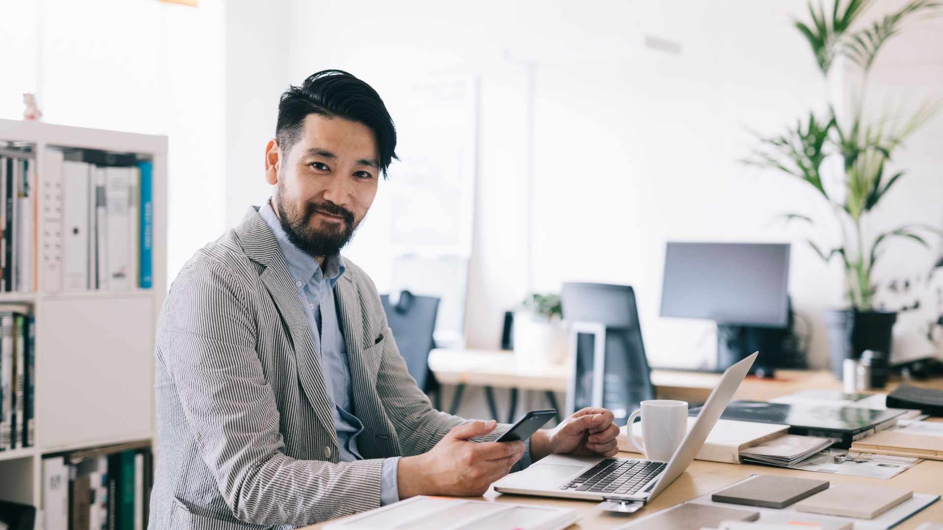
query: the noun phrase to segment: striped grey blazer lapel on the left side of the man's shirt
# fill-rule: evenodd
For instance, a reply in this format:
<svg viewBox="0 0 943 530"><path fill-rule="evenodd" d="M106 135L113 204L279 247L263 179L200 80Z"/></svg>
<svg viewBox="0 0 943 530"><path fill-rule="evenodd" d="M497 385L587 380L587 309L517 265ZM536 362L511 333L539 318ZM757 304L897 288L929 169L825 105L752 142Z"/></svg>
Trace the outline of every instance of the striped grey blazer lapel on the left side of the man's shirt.
<svg viewBox="0 0 943 530"><path fill-rule="evenodd" d="M298 293L291 279L288 263L278 246L278 240L275 240L269 225L258 215L255 207L250 208L240 226L236 228L236 234L246 256L265 266L259 278L272 295L275 307L289 329L302 389L324 430L329 433L334 446L337 447L338 434L324 385L321 353L315 348L311 338L311 328L301 307L301 301L298 300Z"/></svg>

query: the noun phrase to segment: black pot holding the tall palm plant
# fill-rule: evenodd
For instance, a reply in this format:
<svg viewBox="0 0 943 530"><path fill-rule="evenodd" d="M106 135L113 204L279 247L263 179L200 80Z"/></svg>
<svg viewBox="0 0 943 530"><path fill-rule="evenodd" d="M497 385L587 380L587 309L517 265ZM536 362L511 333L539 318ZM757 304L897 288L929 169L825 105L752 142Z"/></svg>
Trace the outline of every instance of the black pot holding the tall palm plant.
<svg viewBox="0 0 943 530"><path fill-rule="evenodd" d="M893 311L825 311L829 333L832 373L841 379L845 359L857 359L865 350L891 355L891 340L897 313Z"/></svg>

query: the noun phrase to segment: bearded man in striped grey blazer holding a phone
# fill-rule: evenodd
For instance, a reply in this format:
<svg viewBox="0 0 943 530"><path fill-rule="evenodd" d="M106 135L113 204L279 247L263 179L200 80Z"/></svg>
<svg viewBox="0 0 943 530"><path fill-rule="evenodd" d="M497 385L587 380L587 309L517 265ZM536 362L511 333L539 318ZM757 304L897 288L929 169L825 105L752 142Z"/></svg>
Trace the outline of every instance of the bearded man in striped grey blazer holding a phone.
<svg viewBox="0 0 943 530"><path fill-rule="evenodd" d="M160 314L152 530L292 528L421 494L480 495L553 453L614 455L612 413L527 442L434 410L372 281L340 249L395 158L376 91L330 70L282 94L272 199L198 251Z"/></svg>

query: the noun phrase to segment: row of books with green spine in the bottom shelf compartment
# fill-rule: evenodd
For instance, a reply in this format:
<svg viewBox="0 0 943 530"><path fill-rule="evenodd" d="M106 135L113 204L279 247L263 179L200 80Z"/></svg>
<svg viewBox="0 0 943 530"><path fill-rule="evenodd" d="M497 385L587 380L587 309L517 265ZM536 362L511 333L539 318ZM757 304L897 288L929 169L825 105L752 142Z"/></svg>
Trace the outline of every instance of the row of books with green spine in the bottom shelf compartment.
<svg viewBox="0 0 943 530"><path fill-rule="evenodd" d="M43 458L45 528L145 528L152 484L149 440Z"/></svg>

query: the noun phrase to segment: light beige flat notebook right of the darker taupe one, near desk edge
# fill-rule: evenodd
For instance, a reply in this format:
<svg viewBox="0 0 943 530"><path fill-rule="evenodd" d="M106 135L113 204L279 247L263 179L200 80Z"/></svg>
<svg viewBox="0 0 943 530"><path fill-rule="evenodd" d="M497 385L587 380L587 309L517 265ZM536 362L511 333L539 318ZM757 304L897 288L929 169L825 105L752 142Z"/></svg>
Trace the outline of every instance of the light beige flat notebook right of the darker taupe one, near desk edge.
<svg viewBox="0 0 943 530"><path fill-rule="evenodd" d="M874 519L913 496L914 492L910 489L833 484L831 488L816 493L792 507L808 513Z"/></svg>

